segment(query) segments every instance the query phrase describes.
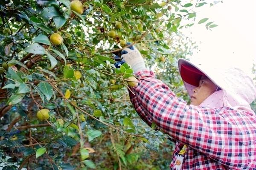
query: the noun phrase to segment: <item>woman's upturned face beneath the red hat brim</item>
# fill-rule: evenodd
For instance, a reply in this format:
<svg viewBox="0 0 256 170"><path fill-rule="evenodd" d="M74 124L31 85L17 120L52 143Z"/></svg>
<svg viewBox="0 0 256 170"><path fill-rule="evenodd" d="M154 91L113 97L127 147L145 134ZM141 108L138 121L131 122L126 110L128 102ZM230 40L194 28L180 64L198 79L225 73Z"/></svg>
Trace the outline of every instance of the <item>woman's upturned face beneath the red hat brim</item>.
<svg viewBox="0 0 256 170"><path fill-rule="evenodd" d="M191 96L191 105L198 106L204 102L207 97L213 94L217 89L217 86L206 76L202 76L199 82L199 86L193 90Z"/></svg>

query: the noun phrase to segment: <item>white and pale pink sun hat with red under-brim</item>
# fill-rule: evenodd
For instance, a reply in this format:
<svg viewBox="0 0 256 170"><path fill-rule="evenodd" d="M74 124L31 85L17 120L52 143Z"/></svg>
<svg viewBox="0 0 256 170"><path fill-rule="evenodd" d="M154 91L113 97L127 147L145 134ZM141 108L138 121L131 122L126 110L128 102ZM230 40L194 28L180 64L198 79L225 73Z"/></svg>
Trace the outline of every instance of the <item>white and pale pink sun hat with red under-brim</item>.
<svg viewBox="0 0 256 170"><path fill-rule="evenodd" d="M189 96L198 87L202 75L207 76L221 90L216 91L200 106L209 108L230 107L253 112L250 103L256 99L253 80L239 68L216 68L209 64L195 64L186 59L178 60L180 76Z"/></svg>

